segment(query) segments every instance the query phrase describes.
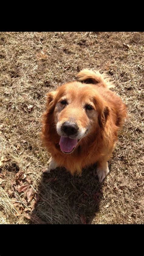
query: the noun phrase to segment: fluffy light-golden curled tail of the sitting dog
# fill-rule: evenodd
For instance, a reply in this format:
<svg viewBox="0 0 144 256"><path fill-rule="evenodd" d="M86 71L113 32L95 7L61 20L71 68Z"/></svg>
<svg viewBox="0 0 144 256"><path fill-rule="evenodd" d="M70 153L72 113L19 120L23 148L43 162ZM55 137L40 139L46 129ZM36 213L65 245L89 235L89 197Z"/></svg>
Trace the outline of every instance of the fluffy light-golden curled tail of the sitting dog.
<svg viewBox="0 0 144 256"><path fill-rule="evenodd" d="M114 85L110 81L110 78L106 73L101 74L99 71L93 71L92 69L83 69L77 74L78 80L84 81L85 83L99 84L105 88L113 88Z"/></svg>

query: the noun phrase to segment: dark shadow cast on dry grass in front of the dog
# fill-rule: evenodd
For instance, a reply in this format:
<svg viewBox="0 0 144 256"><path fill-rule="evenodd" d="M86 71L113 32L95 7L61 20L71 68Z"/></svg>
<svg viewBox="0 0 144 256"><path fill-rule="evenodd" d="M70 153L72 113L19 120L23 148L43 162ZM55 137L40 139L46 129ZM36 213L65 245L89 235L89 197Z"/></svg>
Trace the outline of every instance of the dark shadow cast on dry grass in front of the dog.
<svg viewBox="0 0 144 256"><path fill-rule="evenodd" d="M33 213L47 224L91 224L103 197L96 165L71 176L65 169L43 173Z"/></svg>

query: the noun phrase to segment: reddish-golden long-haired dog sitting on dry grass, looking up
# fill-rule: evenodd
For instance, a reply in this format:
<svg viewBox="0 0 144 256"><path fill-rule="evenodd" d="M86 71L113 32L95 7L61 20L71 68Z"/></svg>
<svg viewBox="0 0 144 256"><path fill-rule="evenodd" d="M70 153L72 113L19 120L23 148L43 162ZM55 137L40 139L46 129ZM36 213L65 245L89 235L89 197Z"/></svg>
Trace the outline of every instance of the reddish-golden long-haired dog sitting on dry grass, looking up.
<svg viewBox="0 0 144 256"><path fill-rule="evenodd" d="M105 73L83 69L76 81L47 94L42 143L51 154L48 172L65 167L81 174L97 162L98 180L104 180L126 118L126 106L112 87Z"/></svg>

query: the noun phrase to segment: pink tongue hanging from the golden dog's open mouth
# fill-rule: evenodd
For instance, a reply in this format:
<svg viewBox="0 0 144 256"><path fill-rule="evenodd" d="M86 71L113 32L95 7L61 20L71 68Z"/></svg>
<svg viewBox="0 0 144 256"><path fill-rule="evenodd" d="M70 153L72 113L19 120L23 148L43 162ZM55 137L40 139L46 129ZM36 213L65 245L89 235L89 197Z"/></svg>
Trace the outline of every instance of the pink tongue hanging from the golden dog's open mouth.
<svg viewBox="0 0 144 256"><path fill-rule="evenodd" d="M59 145L60 145L60 149L63 152L69 153L77 145L77 139L70 139L70 138L66 138L66 137L61 136Z"/></svg>

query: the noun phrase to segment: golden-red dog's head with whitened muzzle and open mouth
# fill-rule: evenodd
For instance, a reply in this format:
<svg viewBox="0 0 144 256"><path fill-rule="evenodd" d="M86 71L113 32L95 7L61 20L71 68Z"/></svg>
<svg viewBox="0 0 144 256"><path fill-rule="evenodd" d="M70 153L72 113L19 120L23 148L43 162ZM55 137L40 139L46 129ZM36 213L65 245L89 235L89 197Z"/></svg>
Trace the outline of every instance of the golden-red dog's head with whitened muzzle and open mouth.
<svg viewBox="0 0 144 256"><path fill-rule="evenodd" d="M96 86L81 82L70 82L48 93L47 107L63 153L72 153L84 137L104 129L108 116Z"/></svg>

